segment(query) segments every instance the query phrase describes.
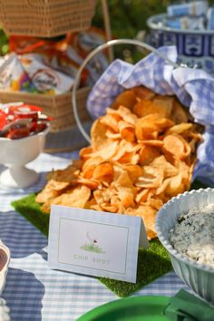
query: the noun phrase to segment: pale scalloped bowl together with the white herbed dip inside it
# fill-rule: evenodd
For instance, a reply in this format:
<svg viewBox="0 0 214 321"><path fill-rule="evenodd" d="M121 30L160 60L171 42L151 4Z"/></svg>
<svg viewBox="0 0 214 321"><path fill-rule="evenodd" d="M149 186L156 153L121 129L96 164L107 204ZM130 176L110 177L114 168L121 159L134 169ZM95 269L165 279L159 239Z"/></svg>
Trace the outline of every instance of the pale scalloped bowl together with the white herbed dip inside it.
<svg viewBox="0 0 214 321"><path fill-rule="evenodd" d="M160 242L170 253L176 274L199 297L213 305L214 240L211 236L214 235L213 229L209 231L212 224L209 218L214 216L212 209L214 189L185 192L170 199L160 209L156 229Z"/></svg>

